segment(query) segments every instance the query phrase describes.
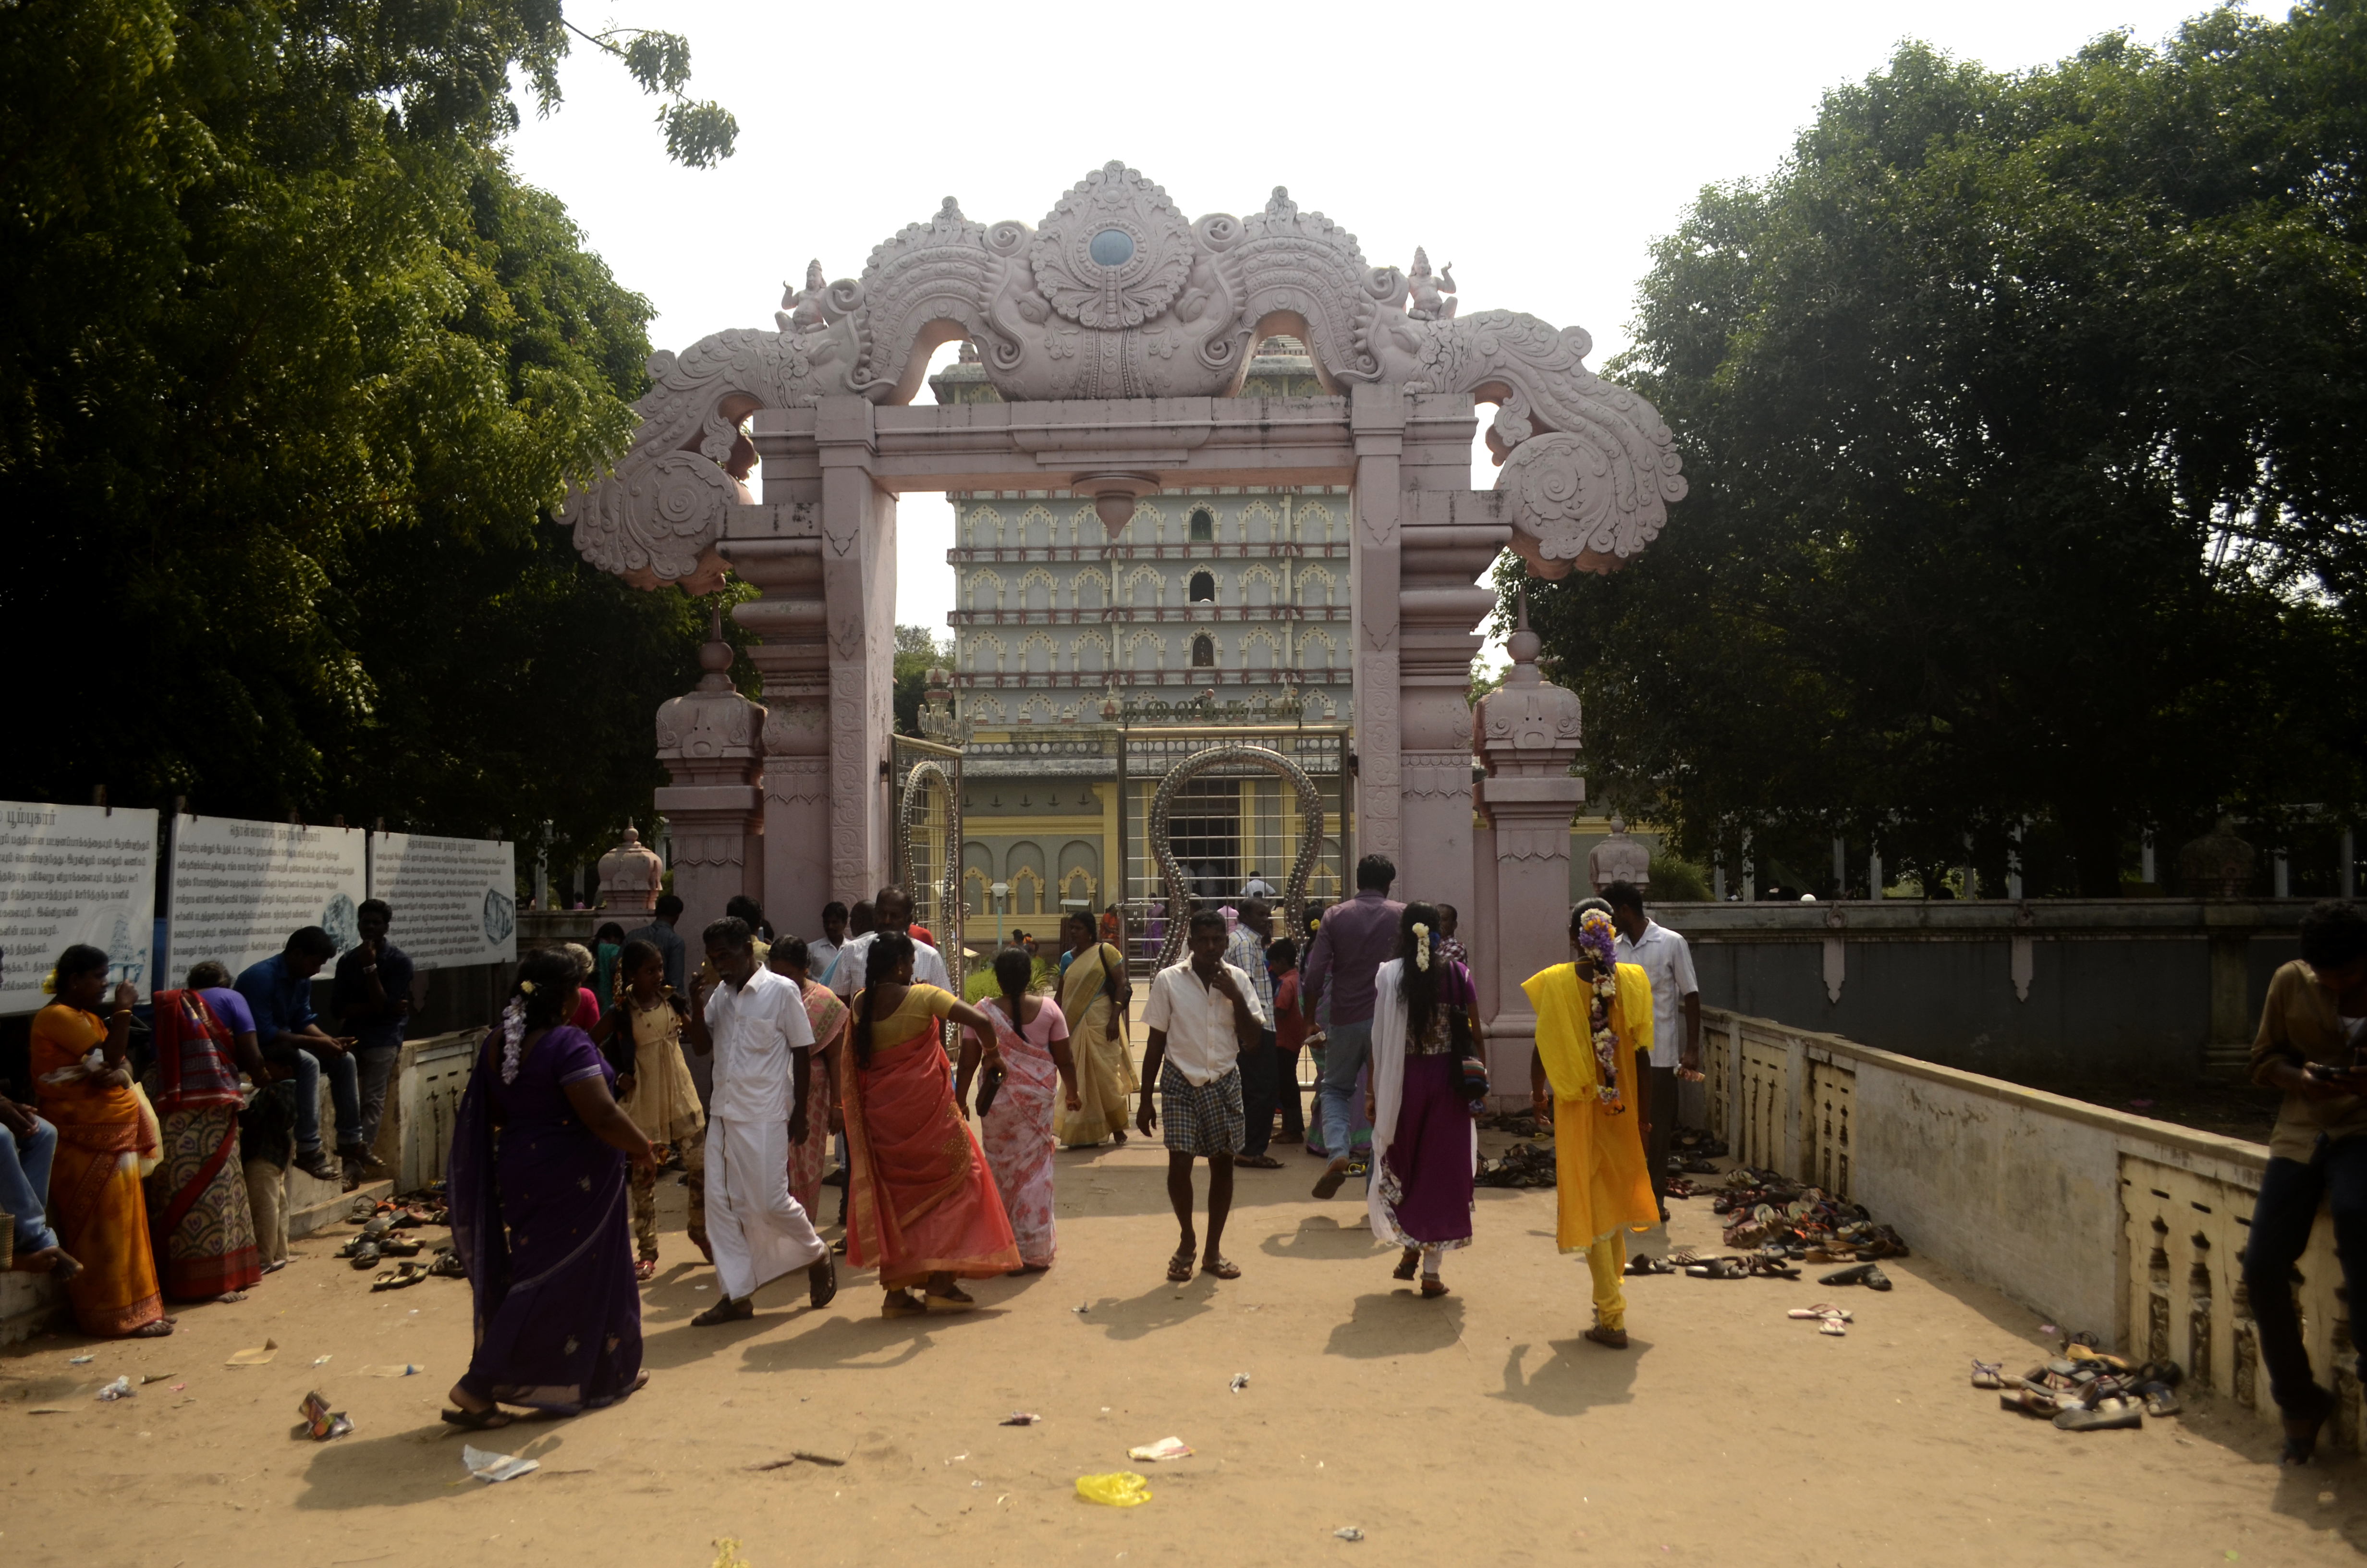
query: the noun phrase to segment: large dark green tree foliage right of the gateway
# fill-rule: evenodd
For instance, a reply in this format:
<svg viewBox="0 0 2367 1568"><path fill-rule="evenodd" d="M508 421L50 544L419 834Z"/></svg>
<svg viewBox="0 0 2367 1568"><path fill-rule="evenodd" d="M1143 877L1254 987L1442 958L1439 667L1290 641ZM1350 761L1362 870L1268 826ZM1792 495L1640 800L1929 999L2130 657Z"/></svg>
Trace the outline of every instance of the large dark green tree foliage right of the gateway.
<svg viewBox="0 0 2367 1568"><path fill-rule="evenodd" d="M2019 76L1905 45L1704 189L1614 365L1692 495L1531 585L1595 793L1761 867L1969 834L1998 879L2031 820L2085 893L2137 824L2367 796L2362 81L2355 0Z"/></svg>

